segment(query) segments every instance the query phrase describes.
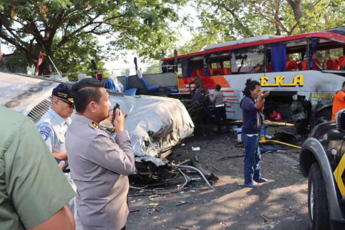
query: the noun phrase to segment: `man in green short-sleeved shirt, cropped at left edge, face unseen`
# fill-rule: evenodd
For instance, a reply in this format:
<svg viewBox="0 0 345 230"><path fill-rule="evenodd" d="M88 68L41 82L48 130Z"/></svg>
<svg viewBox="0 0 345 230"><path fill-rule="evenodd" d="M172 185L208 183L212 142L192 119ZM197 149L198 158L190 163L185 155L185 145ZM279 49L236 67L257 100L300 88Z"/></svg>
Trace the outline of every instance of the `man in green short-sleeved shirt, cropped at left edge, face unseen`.
<svg viewBox="0 0 345 230"><path fill-rule="evenodd" d="M73 230L75 193L34 123L0 106L0 229Z"/></svg>

